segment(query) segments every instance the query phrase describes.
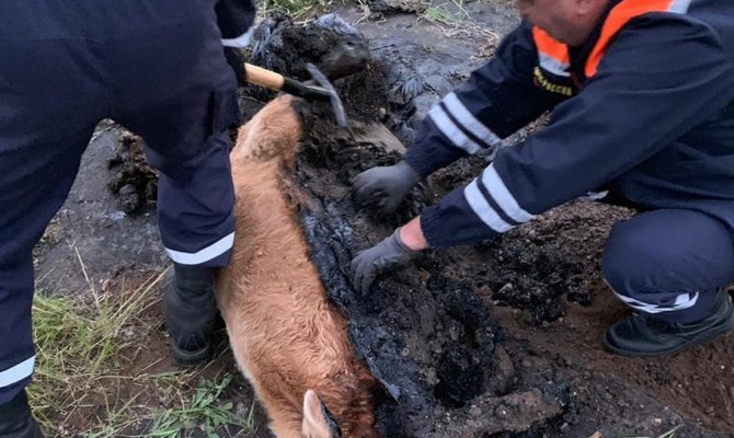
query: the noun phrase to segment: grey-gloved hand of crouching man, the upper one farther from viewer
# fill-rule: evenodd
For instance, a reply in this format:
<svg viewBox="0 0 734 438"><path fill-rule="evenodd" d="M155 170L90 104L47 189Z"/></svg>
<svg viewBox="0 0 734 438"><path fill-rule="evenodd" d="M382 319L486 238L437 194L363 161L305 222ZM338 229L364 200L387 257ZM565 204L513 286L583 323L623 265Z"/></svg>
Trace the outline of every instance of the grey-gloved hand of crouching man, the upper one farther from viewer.
<svg viewBox="0 0 734 438"><path fill-rule="evenodd" d="M405 161L372 168L354 177L352 186L357 205L392 212L421 177Z"/></svg>

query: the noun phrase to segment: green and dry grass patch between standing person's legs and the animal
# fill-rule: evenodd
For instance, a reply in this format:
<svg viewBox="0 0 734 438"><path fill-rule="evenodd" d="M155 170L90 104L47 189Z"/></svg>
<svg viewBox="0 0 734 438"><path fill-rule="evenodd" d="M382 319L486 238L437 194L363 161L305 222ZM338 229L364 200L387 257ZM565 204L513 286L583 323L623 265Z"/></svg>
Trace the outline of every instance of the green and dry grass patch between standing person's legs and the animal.
<svg viewBox="0 0 734 438"><path fill-rule="evenodd" d="M149 431L133 436L184 437L196 428L215 437L226 425L254 430L254 406L240 418L231 403L219 401L231 374L204 379L206 368L151 373L151 364L130 370L150 339L164 343L161 321L149 312L161 304L161 277L106 291L88 281L90 290L74 297L36 293L36 370L28 395L49 438L113 438L140 429Z"/></svg>

